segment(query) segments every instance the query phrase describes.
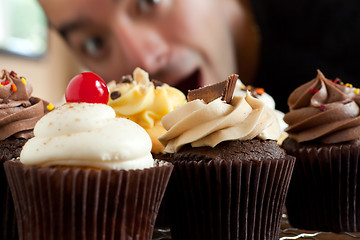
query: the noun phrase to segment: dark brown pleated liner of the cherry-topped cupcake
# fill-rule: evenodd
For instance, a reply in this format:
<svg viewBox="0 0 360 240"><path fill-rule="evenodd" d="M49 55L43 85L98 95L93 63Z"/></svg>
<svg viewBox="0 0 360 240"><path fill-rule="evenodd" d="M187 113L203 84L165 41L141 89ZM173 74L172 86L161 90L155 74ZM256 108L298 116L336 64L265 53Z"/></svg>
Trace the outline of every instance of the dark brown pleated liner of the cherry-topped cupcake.
<svg viewBox="0 0 360 240"><path fill-rule="evenodd" d="M144 170L5 163L19 239L151 239L172 165Z"/></svg>

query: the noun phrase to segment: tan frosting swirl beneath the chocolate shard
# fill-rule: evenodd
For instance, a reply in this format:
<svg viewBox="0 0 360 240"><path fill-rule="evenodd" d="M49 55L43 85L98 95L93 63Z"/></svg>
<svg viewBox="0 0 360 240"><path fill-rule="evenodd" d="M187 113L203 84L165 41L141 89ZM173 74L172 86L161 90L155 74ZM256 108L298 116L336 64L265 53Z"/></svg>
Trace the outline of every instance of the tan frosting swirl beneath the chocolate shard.
<svg viewBox="0 0 360 240"><path fill-rule="evenodd" d="M185 144L210 146L228 140L279 138L281 130L273 110L251 97L234 97L230 104L220 98L206 104L188 102L162 118L168 130L159 138L165 152L177 152Z"/></svg>

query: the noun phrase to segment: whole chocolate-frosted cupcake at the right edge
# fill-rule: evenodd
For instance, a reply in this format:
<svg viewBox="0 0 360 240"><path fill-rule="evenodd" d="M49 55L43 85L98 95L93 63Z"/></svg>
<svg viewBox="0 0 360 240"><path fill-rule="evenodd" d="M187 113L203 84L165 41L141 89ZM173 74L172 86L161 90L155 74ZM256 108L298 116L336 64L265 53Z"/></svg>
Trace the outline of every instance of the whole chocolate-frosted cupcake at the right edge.
<svg viewBox="0 0 360 240"><path fill-rule="evenodd" d="M296 157L286 208L294 227L360 231L359 89L316 78L295 89L282 146Z"/></svg>

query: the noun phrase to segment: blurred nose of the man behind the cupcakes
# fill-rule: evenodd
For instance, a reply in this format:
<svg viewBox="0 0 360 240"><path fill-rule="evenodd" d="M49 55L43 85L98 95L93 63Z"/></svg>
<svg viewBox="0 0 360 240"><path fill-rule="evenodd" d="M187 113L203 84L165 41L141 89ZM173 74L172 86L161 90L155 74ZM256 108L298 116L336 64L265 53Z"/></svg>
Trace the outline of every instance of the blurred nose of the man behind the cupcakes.
<svg viewBox="0 0 360 240"><path fill-rule="evenodd" d="M169 46L154 25L121 19L114 25L114 33L125 64L152 74L166 65Z"/></svg>

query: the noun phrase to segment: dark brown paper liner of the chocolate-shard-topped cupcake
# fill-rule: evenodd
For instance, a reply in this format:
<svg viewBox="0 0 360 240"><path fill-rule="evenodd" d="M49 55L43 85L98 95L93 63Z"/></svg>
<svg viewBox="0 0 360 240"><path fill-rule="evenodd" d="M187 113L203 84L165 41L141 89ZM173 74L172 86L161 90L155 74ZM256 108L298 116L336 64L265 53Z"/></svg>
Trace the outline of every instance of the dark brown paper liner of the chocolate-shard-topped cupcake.
<svg viewBox="0 0 360 240"><path fill-rule="evenodd" d="M277 239L295 158L172 163L167 208L174 240Z"/></svg>

